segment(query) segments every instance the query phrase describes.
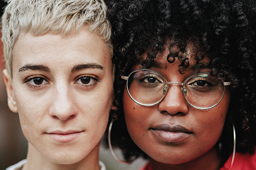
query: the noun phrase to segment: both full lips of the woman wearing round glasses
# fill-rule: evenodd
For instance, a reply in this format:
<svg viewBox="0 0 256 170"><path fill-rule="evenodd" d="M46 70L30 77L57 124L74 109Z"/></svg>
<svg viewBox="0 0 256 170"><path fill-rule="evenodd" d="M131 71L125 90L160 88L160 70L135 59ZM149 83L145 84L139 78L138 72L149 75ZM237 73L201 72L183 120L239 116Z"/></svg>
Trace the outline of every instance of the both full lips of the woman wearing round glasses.
<svg viewBox="0 0 256 170"><path fill-rule="evenodd" d="M149 130L153 132L157 139L168 143L182 142L193 134L192 131L180 125L162 124L153 126Z"/></svg>

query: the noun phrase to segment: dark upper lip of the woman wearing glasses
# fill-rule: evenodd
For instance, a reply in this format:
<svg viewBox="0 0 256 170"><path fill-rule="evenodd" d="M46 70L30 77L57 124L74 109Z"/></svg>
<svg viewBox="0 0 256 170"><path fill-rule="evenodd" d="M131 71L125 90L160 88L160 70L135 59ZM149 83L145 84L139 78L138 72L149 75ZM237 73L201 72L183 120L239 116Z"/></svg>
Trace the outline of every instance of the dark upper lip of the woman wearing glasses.
<svg viewBox="0 0 256 170"><path fill-rule="evenodd" d="M158 126L153 126L150 128L150 130L157 130L157 131L169 131L169 132L176 132L176 133L192 133L192 131L189 131L187 128L181 126L181 125L169 125L169 124L162 124Z"/></svg>

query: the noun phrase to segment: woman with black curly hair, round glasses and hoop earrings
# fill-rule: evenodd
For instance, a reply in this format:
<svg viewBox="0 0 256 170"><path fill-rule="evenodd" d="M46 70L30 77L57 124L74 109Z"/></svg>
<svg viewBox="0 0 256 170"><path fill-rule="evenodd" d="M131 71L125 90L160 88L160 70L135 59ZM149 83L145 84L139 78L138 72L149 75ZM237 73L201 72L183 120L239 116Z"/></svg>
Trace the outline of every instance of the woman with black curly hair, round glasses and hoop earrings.
<svg viewBox="0 0 256 170"><path fill-rule="evenodd" d="M256 1L108 5L110 149L126 161L147 158L142 170L255 170Z"/></svg>

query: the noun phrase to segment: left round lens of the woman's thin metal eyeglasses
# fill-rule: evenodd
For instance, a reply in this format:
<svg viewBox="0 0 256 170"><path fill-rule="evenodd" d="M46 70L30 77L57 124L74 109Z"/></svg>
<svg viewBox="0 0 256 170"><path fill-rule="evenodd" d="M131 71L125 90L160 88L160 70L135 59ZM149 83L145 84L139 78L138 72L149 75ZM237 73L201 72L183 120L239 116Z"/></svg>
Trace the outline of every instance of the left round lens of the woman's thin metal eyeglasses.
<svg viewBox="0 0 256 170"><path fill-rule="evenodd" d="M157 72L149 69L135 70L128 76L127 91L139 105L151 106L159 103L166 93L167 81Z"/></svg>

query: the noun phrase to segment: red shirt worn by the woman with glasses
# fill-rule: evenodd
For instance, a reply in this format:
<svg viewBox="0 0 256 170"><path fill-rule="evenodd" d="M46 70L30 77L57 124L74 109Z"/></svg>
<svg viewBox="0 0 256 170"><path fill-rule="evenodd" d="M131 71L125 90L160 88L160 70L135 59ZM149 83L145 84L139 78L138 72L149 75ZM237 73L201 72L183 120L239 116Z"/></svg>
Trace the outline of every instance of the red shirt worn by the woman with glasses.
<svg viewBox="0 0 256 170"><path fill-rule="evenodd" d="M228 161L220 170L228 170L232 160L232 155L229 157ZM147 163L140 170L152 170L151 164ZM233 166L230 170L256 170L256 153L253 155L236 153Z"/></svg>

